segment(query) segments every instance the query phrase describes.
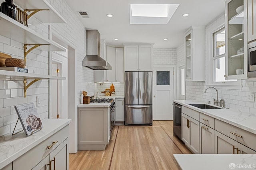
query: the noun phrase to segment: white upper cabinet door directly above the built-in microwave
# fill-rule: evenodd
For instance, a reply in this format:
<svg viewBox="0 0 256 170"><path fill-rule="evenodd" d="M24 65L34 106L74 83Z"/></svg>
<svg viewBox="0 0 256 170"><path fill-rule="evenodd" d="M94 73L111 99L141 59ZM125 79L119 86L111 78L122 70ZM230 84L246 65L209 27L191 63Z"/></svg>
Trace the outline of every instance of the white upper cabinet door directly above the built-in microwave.
<svg viewBox="0 0 256 170"><path fill-rule="evenodd" d="M256 0L248 0L248 42L256 40Z"/></svg>

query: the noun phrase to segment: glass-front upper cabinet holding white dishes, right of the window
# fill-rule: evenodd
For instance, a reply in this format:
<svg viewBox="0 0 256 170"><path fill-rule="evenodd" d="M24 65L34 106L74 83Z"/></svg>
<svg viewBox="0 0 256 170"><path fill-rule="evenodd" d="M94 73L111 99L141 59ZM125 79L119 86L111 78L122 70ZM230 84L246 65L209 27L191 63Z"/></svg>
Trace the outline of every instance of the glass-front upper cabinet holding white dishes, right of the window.
<svg viewBox="0 0 256 170"><path fill-rule="evenodd" d="M240 6L244 6L244 8ZM240 8L239 8L240 7ZM226 79L247 79L247 0L227 0L225 6ZM242 10L239 10L242 9ZM237 69L243 74L236 75Z"/></svg>

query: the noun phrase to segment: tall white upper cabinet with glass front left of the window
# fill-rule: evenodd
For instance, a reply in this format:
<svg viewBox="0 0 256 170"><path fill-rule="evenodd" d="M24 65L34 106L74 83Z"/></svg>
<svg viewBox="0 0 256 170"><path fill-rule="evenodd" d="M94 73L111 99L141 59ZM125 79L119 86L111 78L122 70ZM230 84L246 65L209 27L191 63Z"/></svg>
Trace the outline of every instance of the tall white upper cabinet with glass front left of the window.
<svg viewBox="0 0 256 170"><path fill-rule="evenodd" d="M186 81L205 81L205 27L185 33Z"/></svg>

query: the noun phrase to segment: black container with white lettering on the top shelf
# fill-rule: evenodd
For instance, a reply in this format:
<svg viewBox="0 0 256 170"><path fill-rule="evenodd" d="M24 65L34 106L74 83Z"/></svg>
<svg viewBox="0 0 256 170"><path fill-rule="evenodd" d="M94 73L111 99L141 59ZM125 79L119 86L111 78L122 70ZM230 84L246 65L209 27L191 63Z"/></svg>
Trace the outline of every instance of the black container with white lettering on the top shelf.
<svg viewBox="0 0 256 170"><path fill-rule="evenodd" d="M1 12L10 16L12 19L16 20L16 6L13 3L13 0L5 0L1 4Z"/></svg>

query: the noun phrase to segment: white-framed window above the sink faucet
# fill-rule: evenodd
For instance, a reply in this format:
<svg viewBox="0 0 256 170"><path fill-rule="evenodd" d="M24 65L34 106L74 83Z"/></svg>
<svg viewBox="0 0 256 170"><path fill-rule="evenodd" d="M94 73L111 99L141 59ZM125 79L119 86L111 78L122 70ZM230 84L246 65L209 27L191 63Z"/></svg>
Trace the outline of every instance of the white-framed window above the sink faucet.
<svg viewBox="0 0 256 170"><path fill-rule="evenodd" d="M237 80L226 80L225 67L225 27L213 34L213 56L212 56L212 83L225 83L227 81L237 82Z"/></svg>

